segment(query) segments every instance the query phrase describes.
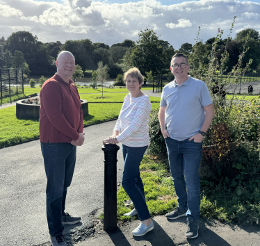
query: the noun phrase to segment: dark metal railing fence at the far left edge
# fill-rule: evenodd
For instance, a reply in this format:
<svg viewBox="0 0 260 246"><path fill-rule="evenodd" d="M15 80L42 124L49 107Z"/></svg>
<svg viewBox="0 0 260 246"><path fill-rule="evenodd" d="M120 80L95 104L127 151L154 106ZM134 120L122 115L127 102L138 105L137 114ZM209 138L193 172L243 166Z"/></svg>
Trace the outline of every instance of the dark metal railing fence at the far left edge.
<svg viewBox="0 0 260 246"><path fill-rule="evenodd" d="M0 68L0 99L24 93L22 69Z"/></svg>

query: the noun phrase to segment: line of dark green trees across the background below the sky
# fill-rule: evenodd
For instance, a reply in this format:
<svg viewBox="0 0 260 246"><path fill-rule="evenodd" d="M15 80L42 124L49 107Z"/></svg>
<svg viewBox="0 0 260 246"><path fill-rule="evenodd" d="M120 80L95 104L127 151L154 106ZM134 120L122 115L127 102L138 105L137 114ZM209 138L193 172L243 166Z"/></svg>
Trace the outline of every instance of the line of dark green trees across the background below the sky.
<svg viewBox="0 0 260 246"><path fill-rule="evenodd" d="M170 81L170 59L181 52L193 60L193 69L200 66L206 67L209 64L212 44L215 38L203 42L198 40L195 45L184 43L179 50L174 50L172 45L161 40L156 32L146 28L138 33L138 41L124 40L121 43L109 47L101 42L85 40L67 40L64 44L57 42L40 42L38 37L33 36L29 31L17 31L8 38L0 38L0 67L22 68L24 73L29 75L50 75L56 72L55 60L60 51L67 50L74 54L76 65L83 71L96 70L99 61L108 67L108 74L116 77L123 74L130 67L138 67L142 74L149 73L149 76L163 74L165 79ZM227 72L238 62L239 55L243 50L245 38L250 35L247 42L247 53L243 57L243 66L249 59L252 59L250 69L260 69L260 35L259 32L247 28L236 34L236 38L229 42L223 39L218 42L216 59L221 60L223 49L229 54L225 62ZM227 44L227 46L226 46Z"/></svg>

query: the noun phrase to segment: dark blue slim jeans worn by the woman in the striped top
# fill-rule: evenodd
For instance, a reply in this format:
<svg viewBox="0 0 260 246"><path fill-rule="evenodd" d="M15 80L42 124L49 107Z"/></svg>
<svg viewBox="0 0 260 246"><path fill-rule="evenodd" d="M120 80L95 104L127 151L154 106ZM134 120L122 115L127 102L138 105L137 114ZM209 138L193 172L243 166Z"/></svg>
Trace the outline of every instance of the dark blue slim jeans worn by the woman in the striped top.
<svg viewBox="0 0 260 246"><path fill-rule="evenodd" d="M151 217L145 202L145 190L143 181L140 177L139 166L143 160L143 155L147 146L128 147L122 145L124 157L124 171L122 176L122 186L129 195L134 207L138 213L140 221L147 220Z"/></svg>

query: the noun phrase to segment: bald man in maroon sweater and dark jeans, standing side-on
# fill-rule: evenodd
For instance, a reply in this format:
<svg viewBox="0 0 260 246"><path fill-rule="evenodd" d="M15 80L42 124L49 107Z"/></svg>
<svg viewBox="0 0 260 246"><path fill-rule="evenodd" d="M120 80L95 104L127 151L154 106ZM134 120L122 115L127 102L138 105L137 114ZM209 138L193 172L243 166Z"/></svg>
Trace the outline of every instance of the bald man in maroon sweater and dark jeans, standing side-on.
<svg viewBox="0 0 260 246"><path fill-rule="evenodd" d="M83 111L79 92L70 79L75 58L62 51L56 60L57 73L40 90L40 143L47 176L46 206L51 245L67 245L63 224L81 218L65 213L67 187L72 182L76 146L83 145Z"/></svg>

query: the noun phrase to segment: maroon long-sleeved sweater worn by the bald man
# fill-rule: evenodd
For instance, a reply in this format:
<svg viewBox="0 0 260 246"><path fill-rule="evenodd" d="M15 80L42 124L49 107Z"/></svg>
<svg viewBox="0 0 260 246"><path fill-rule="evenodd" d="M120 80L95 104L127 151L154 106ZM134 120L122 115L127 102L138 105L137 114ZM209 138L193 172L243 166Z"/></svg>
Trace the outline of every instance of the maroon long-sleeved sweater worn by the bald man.
<svg viewBox="0 0 260 246"><path fill-rule="evenodd" d="M71 142L83 132L79 92L55 74L40 90L40 142Z"/></svg>

